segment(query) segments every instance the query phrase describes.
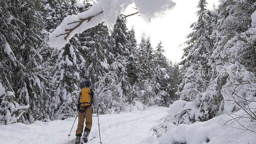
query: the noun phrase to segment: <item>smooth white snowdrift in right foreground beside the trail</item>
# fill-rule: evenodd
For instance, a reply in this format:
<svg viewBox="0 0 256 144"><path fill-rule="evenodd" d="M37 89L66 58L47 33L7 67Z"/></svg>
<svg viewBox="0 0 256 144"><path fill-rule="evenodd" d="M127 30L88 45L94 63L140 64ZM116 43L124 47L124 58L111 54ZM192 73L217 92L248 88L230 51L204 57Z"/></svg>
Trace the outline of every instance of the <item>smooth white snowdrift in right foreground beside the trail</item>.
<svg viewBox="0 0 256 144"><path fill-rule="evenodd" d="M183 109L190 102L179 100L169 110L169 114L176 114ZM182 105L180 105L182 104ZM252 107L256 107L256 102L250 103ZM174 108L174 106L176 108ZM231 116L236 118L245 115L244 110L239 110ZM164 122L166 127L165 133L159 139L148 137L141 141L141 143L187 143L187 144L201 144L201 143L256 143L256 125L250 124L251 119L243 118L238 122L249 130L244 129L238 122L232 122L232 117L228 114L221 114L205 122L196 122L194 124L179 124L178 126L171 122Z"/></svg>

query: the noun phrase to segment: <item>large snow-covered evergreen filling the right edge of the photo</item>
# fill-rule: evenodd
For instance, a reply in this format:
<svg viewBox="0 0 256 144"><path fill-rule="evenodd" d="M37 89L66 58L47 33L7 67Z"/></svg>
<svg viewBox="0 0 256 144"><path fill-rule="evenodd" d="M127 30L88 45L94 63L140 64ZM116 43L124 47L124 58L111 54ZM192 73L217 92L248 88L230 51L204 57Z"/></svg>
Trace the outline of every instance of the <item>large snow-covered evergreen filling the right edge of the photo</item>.
<svg viewBox="0 0 256 144"><path fill-rule="evenodd" d="M233 65L233 68L237 69L236 72L242 70L244 73L246 73L245 71L255 73L256 54L254 41L249 38L252 35L244 35L246 32L249 34L250 29L254 28L252 14L255 11L255 4L254 1L227 0L221 1L217 8L219 20L216 29L212 33L215 45L209 59L209 65L220 73L221 71L223 72L223 68L228 69L228 71L224 70L226 74L223 75L222 73L214 77L213 82L217 86L212 82L213 92L224 97L225 104L223 105L228 112L237 111L244 106L250 107L243 102L243 104L239 105L241 102L239 99L255 94L251 84L247 85L248 82L239 76L234 78L235 74L227 75L232 73L232 68L226 68ZM248 75L245 77L248 77ZM244 88L246 89L245 91ZM247 90L250 93L247 93Z"/></svg>

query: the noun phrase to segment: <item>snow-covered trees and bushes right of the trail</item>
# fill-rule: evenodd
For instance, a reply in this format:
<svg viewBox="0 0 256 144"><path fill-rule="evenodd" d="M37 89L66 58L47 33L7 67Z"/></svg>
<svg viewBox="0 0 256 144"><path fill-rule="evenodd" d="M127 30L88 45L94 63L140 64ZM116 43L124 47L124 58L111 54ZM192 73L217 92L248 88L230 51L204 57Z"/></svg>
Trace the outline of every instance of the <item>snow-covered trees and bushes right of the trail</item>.
<svg viewBox="0 0 256 144"><path fill-rule="evenodd" d="M220 0L213 10L208 10L206 4L206 0L199 0L198 20L191 25L192 32L183 49L181 83L176 92L180 100L172 104L162 123L152 128L158 137L170 131L173 135L169 132L164 136L170 138L168 142L189 143L185 135L190 135L192 142L186 124L205 122L221 114L230 119L218 125L236 123L239 130L256 132L256 1ZM216 119L211 124L214 122ZM210 123L196 127L201 132L203 127L206 132L212 128ZM174 131L177 135L182 131L185 141L176 138ZM202 141L194 139L195 143L209 142L208 135L198 137Z"/></svg>

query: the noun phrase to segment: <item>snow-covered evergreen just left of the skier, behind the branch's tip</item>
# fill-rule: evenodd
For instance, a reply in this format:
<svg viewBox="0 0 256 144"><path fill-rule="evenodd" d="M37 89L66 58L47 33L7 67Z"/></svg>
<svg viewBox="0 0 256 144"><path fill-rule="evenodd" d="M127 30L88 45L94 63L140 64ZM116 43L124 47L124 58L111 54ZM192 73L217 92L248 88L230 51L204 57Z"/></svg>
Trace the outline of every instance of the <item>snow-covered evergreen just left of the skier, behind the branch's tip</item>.
<svg viewBox="0 0 256 144"><path fill-rule="evenodd" d="M76 0L65 2L66 13L64 17L71 14L77 14ZM56 85L56 92L52 98L52 109L54 118L65 119L69 116L75 116L75 99L80 89L79 75L79 55L78 47L80 42L74 36L68 44L60 50L55 49L52 52L52 59L57 64L53 69L53 82Z"/></svg>

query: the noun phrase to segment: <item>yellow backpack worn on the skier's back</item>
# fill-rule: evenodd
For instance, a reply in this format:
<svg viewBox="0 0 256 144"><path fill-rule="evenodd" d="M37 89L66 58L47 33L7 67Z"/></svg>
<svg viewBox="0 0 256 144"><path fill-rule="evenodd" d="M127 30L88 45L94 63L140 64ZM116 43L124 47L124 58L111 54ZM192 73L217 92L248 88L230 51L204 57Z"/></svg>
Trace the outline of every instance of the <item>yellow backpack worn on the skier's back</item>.
<svg viewBox="0 0 256 144"><path fill-rule="evenodd" d="M91 94L92 92L92 94ZM92 105L92 96L93 96L93 91L86 87L86 88L82 88L81 92L80 92L80 106L82 107L89 107Z"/></svg>

